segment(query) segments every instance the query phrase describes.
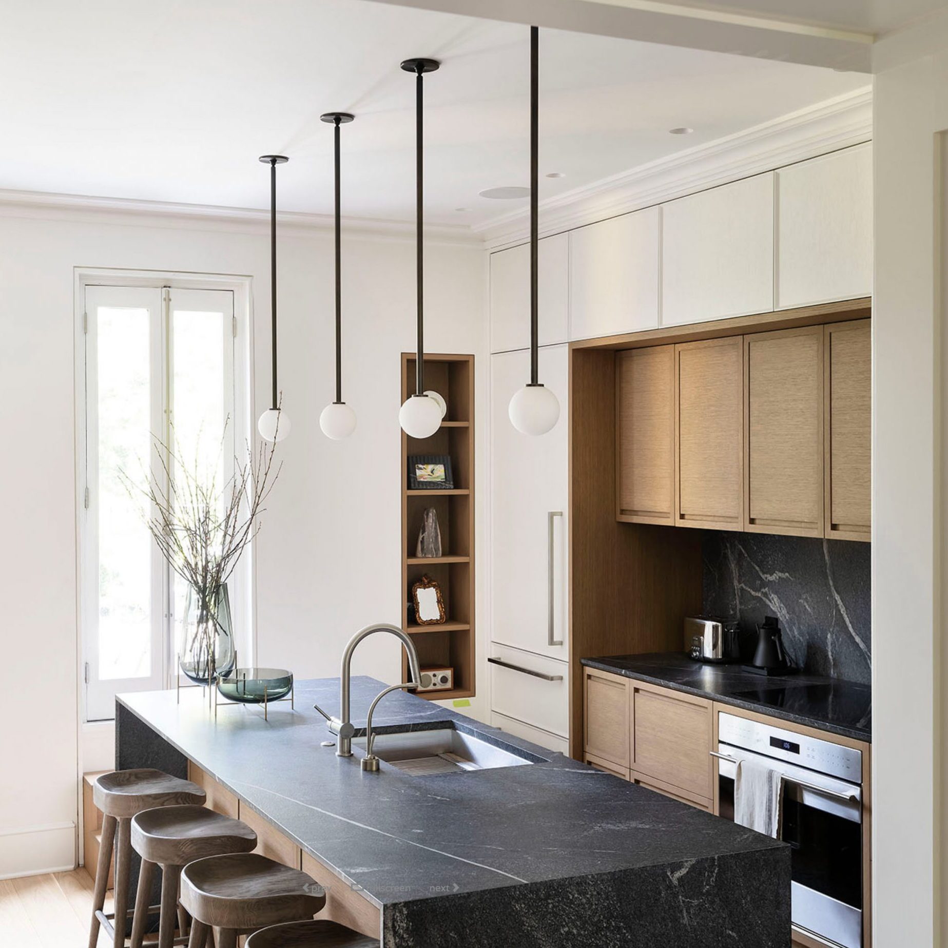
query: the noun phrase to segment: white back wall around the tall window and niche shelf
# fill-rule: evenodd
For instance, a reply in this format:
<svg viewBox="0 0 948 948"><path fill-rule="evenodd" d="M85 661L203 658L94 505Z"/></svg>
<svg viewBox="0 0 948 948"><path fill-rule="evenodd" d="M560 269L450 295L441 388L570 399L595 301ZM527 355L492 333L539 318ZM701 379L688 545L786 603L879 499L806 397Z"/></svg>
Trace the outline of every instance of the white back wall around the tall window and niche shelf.
<svg viewBox="0 0 948 948"><path fill-rule="evenodd" d="M350 441L335 443L319 431L319 411L334 392L331 235L294 228L281 237L280 377L293 432L280 449L283 474L258 540L258 647L262 663L290 667L303 678L337 675L352 633L374 620L397 623L401 611L397 412L400 353L414 349L414 247L410 236L359 236L344 240L343 253L343 396L358 412L358 428ZM426 263L426 348L479 356L477 411L485 420L483 251L429 243ZM259 366L254 417L269 404L265 228L4 210L0 634L4 681L16 694L8 690L5 698L0 760L8 774L29 779L0 781L0 877L73 864L80 766L76 266L250 275ZM480 483L487 483L484 430L477 431ZM484 510L480 503L479 536ZM478 611L485 616L481 588ZM356 653L354 670L397 681L395 643L369 640ZM100 731L88 746L100 757L109 741ZM83 769L103 763L88 760ZM24 832L38 828L44 830Z"/></svg>

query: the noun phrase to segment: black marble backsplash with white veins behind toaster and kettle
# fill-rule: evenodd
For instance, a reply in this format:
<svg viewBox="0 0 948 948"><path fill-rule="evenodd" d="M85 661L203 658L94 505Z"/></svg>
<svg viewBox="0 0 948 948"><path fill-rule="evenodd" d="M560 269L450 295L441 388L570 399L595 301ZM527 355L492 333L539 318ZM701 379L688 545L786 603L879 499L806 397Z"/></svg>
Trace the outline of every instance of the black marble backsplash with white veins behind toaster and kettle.
<svg viewBox="0 0 948 948"><path fill-rule="evenodd" d="M871 680L870 544L708 531L703 611L740 623L753 657L757 623L775 615L796 665L812 675Z"/></svg>

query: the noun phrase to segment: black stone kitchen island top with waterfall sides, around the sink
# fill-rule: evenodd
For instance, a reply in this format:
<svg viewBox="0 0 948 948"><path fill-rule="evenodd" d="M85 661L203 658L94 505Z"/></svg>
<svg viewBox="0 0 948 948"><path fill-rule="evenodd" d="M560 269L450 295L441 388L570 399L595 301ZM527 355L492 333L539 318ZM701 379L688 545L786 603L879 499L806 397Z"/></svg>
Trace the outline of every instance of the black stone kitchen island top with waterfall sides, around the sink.
<svg viewBox="0 0 948 948"><path fill-rule="evenodd" d="M356 738L383 686L353 679ZM119 696L116 765L191 761L377 912L385 948L789 948L783 844L401 692L376 709L383 735L452 729L521 765L364 772L357 739L353 757L322 746L313 704L337 713L338 695L338 679L298 682L269 720L215 718L196 691Z"/></svg>

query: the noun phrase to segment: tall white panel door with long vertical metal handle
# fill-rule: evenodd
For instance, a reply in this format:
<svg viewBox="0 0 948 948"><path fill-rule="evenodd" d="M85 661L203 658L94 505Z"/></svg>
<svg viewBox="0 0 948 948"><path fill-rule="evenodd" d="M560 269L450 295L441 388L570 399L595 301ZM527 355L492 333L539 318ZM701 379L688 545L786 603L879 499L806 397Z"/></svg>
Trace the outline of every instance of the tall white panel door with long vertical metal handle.
<svg viewBox="0 0 948 948"><path fill-rule="evenodd" d="M566 659L568 457L566 346L539 351L559 421L537 438L507 416L530 378L530 353L491 356L491 641Z"/></svg>

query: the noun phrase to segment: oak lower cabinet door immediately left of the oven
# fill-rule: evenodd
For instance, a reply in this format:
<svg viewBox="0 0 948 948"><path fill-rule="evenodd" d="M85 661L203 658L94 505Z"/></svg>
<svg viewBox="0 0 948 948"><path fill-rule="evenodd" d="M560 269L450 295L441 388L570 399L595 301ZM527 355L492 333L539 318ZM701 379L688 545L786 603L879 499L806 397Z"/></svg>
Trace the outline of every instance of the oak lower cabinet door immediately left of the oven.
<svg viewBox="0 0 948 948"><path fill-rule="evenodd" d="M653 684L631 684L632 779L646 775L656 783L642 782L653 790L710 809L711 702Z"/></svg>

